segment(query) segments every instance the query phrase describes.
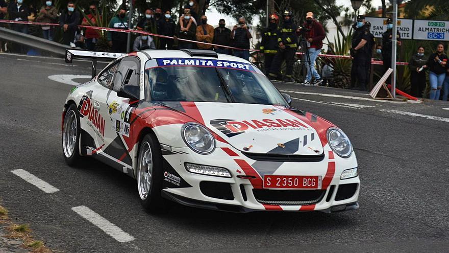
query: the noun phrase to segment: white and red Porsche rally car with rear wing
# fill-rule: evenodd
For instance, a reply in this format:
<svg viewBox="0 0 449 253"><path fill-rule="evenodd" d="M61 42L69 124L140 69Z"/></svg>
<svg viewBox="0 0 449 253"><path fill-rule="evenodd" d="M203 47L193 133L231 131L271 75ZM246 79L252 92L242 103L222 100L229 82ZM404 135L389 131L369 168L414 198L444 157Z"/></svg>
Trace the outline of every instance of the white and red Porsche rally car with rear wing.
<svg viewBox="0 0 449 253"><path fill-rule="evenodd" d="M70 91L64 158L92 156L137 179L144 208L165 199L231 212L358 208L346 134L290 107L252 63L201 50L67 51L78 56L114 60Z"/></svg>

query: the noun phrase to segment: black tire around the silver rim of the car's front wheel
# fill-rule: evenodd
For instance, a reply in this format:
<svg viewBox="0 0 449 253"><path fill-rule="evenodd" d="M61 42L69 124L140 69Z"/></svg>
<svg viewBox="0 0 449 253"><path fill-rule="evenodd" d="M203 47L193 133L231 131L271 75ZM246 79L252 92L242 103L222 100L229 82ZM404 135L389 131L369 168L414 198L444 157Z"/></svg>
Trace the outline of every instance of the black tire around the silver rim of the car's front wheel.
<svg viewBox="0 0 449 253"><path fill-rule="evenodd" d="M149 191L146 197L144 197L142 191L145 190L141 188L143 187L141 185L141 173L145 168L143 158L148 147L151 148L152 176L150 179L151 187L149 187ZM165 200L161 197L164 170L161 147L154 133L147 133L143 136L139 144L137 159L137 192L140 197L140 203L149 212L160 212L166 206ZM146 171L148 170L148 166L146 166Z"/></svg>

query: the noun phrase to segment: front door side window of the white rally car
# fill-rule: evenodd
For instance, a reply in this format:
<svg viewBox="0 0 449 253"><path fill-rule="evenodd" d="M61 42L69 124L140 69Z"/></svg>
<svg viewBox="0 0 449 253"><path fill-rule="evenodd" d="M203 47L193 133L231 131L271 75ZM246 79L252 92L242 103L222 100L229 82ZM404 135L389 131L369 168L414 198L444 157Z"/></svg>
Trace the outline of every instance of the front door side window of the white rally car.
<svg viewBox="0 0 449 253"><path fill-rule="evenodd" d="M137 86L140 82L140 61L139 58L128 56L121 60L120 65L114 76L113 90L118 89L123 85ZM138 97L138 96L137 96Z"/></svg>

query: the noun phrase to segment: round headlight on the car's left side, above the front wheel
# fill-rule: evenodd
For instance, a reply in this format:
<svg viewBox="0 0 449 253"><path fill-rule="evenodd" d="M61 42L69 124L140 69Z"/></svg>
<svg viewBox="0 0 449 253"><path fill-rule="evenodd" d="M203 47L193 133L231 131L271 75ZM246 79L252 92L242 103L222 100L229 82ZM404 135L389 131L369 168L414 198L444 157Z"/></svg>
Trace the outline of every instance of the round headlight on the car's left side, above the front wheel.
<svg viewBox="0 0 449 253"><path fill-rule="evenodd" d="M186 123L181 128L184 142L193 151L200 154L212 153L215 149L215 139L204 126L196 123Z"/></svg>

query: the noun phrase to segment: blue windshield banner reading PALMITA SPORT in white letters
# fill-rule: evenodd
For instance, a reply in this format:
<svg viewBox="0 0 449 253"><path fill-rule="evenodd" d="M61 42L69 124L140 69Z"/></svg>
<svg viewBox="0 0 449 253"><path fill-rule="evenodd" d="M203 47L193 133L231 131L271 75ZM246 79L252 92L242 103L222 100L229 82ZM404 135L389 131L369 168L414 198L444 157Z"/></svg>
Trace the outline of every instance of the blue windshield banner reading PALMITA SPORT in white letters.
<svg viewBox="0 0 449 253"><path fill-rule="evenodd" d="M223 61L223 60L209 60L209 59L189 59L189 58L160 58L156 59L158 66L204 66L204 67L222 67L235 68L236 70L253 71L251 64Z"/></svg>

